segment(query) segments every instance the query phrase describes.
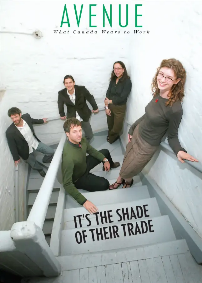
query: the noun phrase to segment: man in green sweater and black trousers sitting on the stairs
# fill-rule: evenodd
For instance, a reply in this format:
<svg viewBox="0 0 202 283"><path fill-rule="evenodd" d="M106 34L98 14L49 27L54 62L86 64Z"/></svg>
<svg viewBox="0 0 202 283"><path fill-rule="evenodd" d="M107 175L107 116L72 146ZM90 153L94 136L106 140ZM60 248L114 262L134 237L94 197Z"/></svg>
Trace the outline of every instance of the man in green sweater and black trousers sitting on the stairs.
<svg viewBox="0 0 202 283"><path fill-rule="evenodd" d="M86 138L82 138L81 122L78 119L68 118L64 122L63 128L68 137L62 155L64 189L92 214L98 211L97 207L87 200L78 189L86 191L108 190L109 181L107 179L89 172L101 162L104 164L105 171L117 168L120 163L113 162L108 149L97 151L89 145Z"/></svg>

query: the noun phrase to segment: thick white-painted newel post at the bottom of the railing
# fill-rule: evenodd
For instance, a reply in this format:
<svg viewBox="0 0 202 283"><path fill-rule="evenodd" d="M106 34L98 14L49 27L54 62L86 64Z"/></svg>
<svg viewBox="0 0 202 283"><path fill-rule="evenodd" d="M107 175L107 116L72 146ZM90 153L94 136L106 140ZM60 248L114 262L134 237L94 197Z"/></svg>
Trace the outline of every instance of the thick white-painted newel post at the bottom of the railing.
<svg viewBox="0 0 202 283"><path fill-rule="evenodd" d="M34 222L14 223L10 235L17 250L33 261L44 276L54 277L61 273L60 263L48 246L43 231Z"/></svg>

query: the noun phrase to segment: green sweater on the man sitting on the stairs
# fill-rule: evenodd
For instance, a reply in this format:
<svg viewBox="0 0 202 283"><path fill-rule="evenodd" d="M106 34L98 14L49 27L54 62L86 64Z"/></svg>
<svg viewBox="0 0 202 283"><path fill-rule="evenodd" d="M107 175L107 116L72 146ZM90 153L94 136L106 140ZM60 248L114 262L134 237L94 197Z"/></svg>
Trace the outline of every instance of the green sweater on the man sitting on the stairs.
<svg viewBox="0 0 202 283"><path fill-rule="evenodd" d="M64 189L79 204L83 205L86 198L77 190L74 183L86 172L86 153L103 161L105 156L89 145L85 138L81 140L81 147L67 141L63 148L62 175ZM83 188L85 190L85 188Z"/></svg>

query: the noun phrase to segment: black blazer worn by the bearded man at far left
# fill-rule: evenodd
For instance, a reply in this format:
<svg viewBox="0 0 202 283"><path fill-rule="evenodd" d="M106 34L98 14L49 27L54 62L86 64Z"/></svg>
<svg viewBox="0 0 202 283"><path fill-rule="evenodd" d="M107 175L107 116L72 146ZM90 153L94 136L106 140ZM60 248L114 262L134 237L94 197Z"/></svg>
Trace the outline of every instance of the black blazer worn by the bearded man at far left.
<svg viewBox="0 0 202 283"><path fill-rule="evenodd" d="M38 140L38 142L40 142L38 137L35 135L33 125L43 124L43 119L32 119L29 114L23 114L22 118L28 123L28 126L32 130L34 137ZM28 143L21 132L16 128L14 123L12 123L6 130L6 137L11 154L13 155L13 160L17 161L20 159L20 157L22 157L24 160L27 160L29 157Z"/></svg>

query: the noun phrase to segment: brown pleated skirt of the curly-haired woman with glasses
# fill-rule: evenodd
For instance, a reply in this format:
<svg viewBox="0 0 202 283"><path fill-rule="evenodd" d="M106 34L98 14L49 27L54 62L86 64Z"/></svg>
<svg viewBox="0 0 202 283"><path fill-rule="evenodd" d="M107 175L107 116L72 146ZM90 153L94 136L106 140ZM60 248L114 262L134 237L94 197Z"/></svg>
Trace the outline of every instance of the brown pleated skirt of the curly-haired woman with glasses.
<svg viewBox="0 0 202 283"><path fill-rule="evenodd" d="M127 144L123 164L120 170L122 179L138 175L153 157L158 146L151 146L139 134L139 125L134 129L131 142Z"/></svg>

